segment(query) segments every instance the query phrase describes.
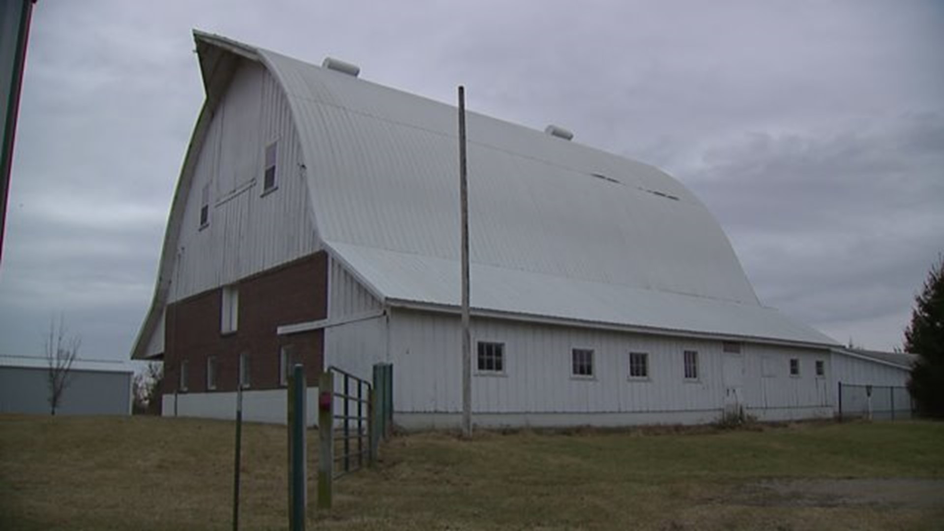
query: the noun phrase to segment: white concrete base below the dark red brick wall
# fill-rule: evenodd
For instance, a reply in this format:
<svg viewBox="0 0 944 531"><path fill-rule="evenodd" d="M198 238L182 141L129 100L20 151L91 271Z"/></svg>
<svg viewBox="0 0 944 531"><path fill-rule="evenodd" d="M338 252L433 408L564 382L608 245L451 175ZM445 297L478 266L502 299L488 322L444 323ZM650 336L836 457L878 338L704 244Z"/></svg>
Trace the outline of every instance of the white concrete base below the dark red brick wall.
<svg viewBox="0 0 944 531"><path fill-rule="evenodd" d="M243 391L243 420L286 424L287 405L285 389ZM309 426L318 425L318 388L309 387L306 415ZM163 396L164 417L194 417L198 419L236 419L236 393L179 393Z"/></svg>

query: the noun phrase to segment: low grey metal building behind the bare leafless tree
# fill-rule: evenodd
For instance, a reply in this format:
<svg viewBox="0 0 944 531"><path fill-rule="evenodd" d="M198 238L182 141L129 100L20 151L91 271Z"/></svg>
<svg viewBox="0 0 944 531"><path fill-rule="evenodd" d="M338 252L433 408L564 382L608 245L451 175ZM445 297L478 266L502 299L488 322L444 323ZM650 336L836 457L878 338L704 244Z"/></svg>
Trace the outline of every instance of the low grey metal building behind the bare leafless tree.
<svg viewBox="0 0 944 531"><path fill-rule="evenodd" d="M130 415L133 370L126 363L76 360L56 415ZM0 356L0 413L49 415L44 358Z"/></svg>

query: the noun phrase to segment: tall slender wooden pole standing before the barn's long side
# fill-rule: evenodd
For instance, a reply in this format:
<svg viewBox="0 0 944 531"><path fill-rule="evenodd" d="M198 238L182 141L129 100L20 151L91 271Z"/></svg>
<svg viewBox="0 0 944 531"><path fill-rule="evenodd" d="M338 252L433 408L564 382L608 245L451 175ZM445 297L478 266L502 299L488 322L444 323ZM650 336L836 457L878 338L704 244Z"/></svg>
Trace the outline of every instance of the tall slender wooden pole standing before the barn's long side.
<svg viewBox="0 0 944 531"><path fill-rule="evenodd" d="M463 436L472 437L472 337L469 334L469 198L465 169L465 88L459 87L459 203L463 231Z"/></svg>

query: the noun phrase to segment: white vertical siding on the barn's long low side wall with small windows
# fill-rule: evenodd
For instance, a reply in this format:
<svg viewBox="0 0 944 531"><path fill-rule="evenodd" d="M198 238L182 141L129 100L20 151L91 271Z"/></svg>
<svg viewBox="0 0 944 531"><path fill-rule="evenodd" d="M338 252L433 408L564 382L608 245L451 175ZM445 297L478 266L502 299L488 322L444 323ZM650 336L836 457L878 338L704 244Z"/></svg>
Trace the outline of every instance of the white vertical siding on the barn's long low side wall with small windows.
<svg viewBox="0 0 944 531"><path fill-rule="evenodd" d="M396 310L391 314L391 361L397 411L461 410L459 319ZM473 319L473 368L477 341L505 344L505 370L475 375L473 411L477 413L691 412L720 414L723 406L721 342L707 339L630 334L562 326ZM571 349L592 349L593 379L571 376ZM629 352L649 353L649 379L629 378ZM699 352L699 379L683 378L683 351ZM757 382L761 353L776 356L784 374ZM745 345L744 401L750 407L811 408L829 397L813 376L816 351ZM800 378L785 367L791 356L808 366ZM475 370L473 370L475 372ZM799 416L799 414L798 414Z"/></svg>

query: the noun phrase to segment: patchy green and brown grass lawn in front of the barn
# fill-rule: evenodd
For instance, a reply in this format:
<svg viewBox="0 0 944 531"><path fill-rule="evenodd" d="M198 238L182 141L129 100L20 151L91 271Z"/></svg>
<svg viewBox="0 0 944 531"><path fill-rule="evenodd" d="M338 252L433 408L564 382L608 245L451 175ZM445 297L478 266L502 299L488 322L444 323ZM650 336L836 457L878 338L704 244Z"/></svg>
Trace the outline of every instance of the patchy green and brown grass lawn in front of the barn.
<svg viewBox="0 0 944 531"><path fill-rule="evenodd" d="M284 528L285 428L245 424L244 529ZM310 529L941 529L944 423L396 437ZM233 424L0 417L0 529L228 529ZM892 479L894 478L894 479Z"/></svg>

